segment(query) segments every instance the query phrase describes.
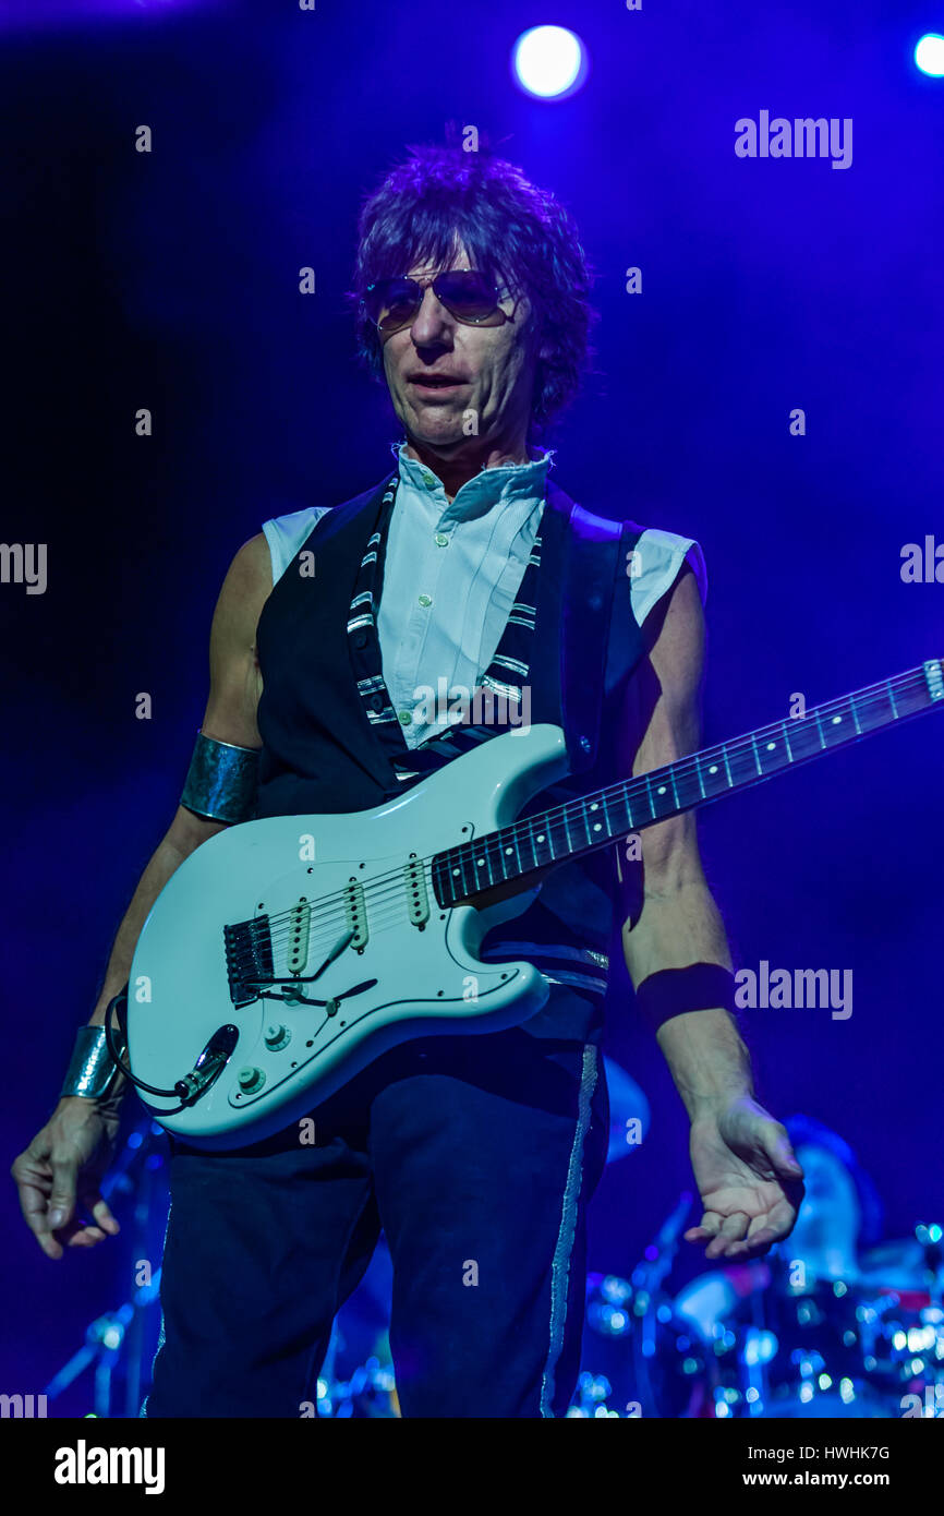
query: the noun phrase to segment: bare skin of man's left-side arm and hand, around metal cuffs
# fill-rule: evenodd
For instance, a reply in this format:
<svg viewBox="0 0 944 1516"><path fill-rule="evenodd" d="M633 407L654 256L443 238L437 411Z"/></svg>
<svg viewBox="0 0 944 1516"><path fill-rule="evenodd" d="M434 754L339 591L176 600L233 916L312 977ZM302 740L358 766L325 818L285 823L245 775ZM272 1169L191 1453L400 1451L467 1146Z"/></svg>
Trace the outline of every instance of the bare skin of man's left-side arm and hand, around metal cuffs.
<svg viewBox="0 0 944 1516"><path fill-rule="evenodd" d="M256 625L270 591L268 544L259 534L239 549L220 591L211 629L211 688L202 723L205 735L239 747L262 746L256 726L262 688ZM224 826L224 822L212 822L177 807L118 926L89 1025L103 1025L108 1002L127 982L141 928L170 876L195 847ZM61 1258L64 1243L68 1248L92 1248L118 1231L118 1222L100 1192L118 1128L118 1095L120 1090L103 1102L85 1096L61 1099L45 1126L12 1166L24 1220L48 1258ZM88 1213L88 1220L77 1214L77 1205Z"/></svg>

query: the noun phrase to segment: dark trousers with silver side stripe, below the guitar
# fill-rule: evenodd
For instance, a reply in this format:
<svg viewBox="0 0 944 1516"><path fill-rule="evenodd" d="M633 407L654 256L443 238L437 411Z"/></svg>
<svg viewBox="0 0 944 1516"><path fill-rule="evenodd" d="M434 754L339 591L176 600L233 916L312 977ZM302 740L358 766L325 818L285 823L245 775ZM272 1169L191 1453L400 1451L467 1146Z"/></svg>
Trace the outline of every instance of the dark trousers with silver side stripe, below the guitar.
<svg viewBox="0 0 944 1516"><path fill-rule="evenodd" d="M606 1161L600 1049L521 1028L429 1037L312 1119L314 1145L299 1125L223 1154L173 1143L141 1414L312 1414L335 1313L380 1228L402 1414L565 1414Z"/></svg>

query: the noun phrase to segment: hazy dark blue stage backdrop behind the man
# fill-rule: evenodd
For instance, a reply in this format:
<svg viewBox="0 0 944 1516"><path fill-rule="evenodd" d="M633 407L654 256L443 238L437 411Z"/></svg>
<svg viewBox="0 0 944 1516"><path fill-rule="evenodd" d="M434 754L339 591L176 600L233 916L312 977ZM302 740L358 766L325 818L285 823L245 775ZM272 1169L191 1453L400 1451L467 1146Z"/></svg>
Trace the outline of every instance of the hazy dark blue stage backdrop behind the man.
<svg viewBox="0 0 944 1516"><path fill-rule="evenodd" d="M476 124L573 209L602 321L556 475L591 508L702 543L706 743L786 716L794 691L815 703L944 655L944 585L900 579L905 543L944 540L944 82L911 62L933 8L76 0L35 27L12 9L3 537L45 541L50 567L44 596L0 587L8 1163L55 1104L173 816L233 552L389 465L399 432L342 293L361 197L405 144ZM508 71L515 36L549 20L592 64L556 105ZM852 117L852 167L736 158L733 123L761 109ZM314 297L297 293L308 264ZM941 1211L942 749L929 717L702 823L739 963L853 970L850 1020L758 1010L746 1035L761 1098L852 1142L892 1237ZM605 1176L589 1264L627 1273L691 1176L624 972L611 1026L653 1125ZM129 1293L124 1245L47 1261L9 1182L0 1223L2 1387L38 1389Z"/></svg>

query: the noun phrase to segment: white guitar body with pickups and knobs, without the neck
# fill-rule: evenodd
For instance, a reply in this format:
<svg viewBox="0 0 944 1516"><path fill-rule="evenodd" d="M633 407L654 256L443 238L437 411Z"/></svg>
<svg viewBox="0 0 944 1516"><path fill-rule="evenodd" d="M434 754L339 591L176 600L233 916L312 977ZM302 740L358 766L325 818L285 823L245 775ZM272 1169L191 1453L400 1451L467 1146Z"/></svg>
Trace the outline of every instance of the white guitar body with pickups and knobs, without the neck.
<svg viewBox="0 0 944 1516"><path fill-rule="evenodd" d="M544 975L529 963L483 964L477 949L539 885L485 908L442 908L430 861L514 822L567 772L561 728L520 728L370 811L247 822L197 847L138 938L129 1066L173 1088L221 1028L233 1046L182 1110L179 1096L139 1092L156 1120L194 1146L239 1148L291 1125L397 1043L533 1016L549 996Z"/></svg>

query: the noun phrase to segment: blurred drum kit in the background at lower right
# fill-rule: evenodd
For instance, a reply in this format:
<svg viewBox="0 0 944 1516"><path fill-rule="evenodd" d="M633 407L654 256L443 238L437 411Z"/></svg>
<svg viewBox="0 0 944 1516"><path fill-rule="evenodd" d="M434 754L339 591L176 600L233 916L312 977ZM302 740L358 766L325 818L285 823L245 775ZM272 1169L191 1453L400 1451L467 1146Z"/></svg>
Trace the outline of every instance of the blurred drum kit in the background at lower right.
<svg viewBox="0 0 944 1516"><path fill-rule="evenodd" d="M939 1237L918 1226L852 1280L799 1284L782 1249L674 1296L649 1264L594 1273L568 1416L944 1417Z"/></svg>

